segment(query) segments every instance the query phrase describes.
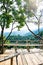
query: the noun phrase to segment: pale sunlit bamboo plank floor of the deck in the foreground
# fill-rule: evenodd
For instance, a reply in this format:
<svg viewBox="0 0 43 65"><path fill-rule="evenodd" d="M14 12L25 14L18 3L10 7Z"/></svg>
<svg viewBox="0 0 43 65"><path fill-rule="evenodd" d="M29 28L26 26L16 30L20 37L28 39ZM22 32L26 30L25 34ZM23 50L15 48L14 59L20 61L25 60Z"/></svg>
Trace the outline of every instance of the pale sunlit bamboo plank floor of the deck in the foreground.
<svg viewBox="0 0 43 65"><path fill-rule="evenodd" d="M42 49L30 49L28 52L27 49L17 49L18 55L18 65L43 65L43 50ZM0 55L1 58L5 58L9 55L15 53L14 49L7 50L5 53ZM11 59L0 62L0 65L11 65ZM13 65L16 64L16 57L13 57Z"/></svg>

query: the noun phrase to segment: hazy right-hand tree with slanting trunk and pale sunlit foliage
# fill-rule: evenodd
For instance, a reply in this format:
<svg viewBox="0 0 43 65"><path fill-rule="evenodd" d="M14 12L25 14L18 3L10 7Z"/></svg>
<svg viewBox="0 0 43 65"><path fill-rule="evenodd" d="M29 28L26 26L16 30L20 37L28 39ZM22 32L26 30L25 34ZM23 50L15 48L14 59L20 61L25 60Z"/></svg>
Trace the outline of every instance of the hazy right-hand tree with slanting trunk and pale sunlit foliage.
<svg viewBox="0 0 43 65"><path fill-rule="evenodd" d="M38 31L39 31L39 27L40 27L40 18L42 15L39 16L39 18L36 16L36 12L37 12L37 1L36 0L25 0L27 2L27 7L26 7L26 10L27 10L27 14L29 15L28 18L31 16L31 17L35 17L38 21ZM36 2L35 2L36 1ZM41 1L41 0L40 0ZM38 1L38 3L40 2ZM34 4L35 3L35 4ZM32 6L34 5L34 6ZM28 21L30 22L30 21ZM39 35L36 35L33 31L31 31L31 29L29 28L27 22L25 22L28 30L38 39L41 39L43 40Z"/></svg>

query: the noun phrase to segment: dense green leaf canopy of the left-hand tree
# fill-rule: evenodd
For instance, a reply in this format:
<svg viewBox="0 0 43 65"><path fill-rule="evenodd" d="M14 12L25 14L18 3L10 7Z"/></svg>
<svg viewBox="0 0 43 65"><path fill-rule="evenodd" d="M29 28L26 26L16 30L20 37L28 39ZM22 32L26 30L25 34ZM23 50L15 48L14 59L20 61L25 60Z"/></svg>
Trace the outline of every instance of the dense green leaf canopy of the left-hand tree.
<svg viewBox="0 0 43 65"><path fill-rule="evenodd" d="M16 2L16 6L14 3ZM0 0L0 25L5 23L6 28L9 27L10 23L18 22L20 24L19 27L24 26L24 22L26 19L25 8L21 5L21 0ZM17 9L18 8L18 9Z"/></svg>

